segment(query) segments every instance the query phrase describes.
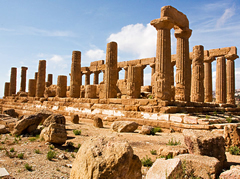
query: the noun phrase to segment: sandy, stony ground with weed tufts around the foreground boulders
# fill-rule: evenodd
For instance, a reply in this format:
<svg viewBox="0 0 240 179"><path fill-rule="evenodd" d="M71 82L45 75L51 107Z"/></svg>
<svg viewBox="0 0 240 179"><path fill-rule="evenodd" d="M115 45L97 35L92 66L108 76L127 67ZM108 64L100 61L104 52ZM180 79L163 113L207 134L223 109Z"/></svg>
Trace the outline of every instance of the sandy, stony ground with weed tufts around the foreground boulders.
<svg viewBox="0 0 240 179"><path fill-rule="evenodd" d="M72 164L74 161L78 147L88 138L99 135L127 140L140 159L148 156L152 161L160 156L153 155L150 151L156 150L158 154L160 146L166 145L171 140L184 146L184 138L181 133L171 133L170 130L163 130L154 136L139 134L139 130L134 133L117 133L110 129L110 125L111 123L104 122L104 128L95 128L91 120L81 120L79 124L73 124L67 118L68 139L63 146L51 145L41 141L38 136L15 137L10 134L2 134L0 137L0 168L5 168L14 178L69 178L71 168L68 164ZM81 130L81 135L75 135L74 129ZM54 151L56 158L48 160L47 153L49 151ZM22 153L23 159L20 159ZM233 156L228 152L226 155L229 163L240 165L240 156ZM27 170L26 164L32 168ZM143 178L147 170L147 167L142 168Z"/></svg>

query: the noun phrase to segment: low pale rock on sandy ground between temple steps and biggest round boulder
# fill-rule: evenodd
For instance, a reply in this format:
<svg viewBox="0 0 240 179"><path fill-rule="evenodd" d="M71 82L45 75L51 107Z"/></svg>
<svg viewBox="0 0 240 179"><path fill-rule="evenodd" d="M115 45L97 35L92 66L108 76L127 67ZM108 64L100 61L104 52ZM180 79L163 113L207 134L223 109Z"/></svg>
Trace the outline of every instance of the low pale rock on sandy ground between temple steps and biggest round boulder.
<svg viewBox="0 0 240 179"><path fill-rule="evenodd" d="M115 121L111 125L111 129L116 132L134 132L138 128L138 124L132 121Z"/></svg>

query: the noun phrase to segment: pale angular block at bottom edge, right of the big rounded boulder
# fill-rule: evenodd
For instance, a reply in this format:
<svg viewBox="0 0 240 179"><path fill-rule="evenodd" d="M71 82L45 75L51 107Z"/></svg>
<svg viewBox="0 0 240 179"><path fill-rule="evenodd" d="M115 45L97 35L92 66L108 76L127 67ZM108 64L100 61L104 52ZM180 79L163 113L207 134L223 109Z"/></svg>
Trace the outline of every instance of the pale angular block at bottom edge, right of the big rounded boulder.
<svg viewBox="0 0 240 179"><path fill-rule="evenodd" d="M162 160L157 159L148 170L146 179L183 178L182 162L178 158Z"/></svg>

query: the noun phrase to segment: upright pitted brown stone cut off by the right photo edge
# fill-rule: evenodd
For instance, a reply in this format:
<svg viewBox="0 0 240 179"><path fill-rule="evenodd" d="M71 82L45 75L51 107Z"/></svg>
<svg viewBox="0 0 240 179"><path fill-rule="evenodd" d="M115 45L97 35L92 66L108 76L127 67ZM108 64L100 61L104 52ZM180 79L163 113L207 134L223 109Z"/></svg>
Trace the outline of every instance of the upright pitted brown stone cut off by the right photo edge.
<svg viewBox="0 0 240 179"><path fill-rule="evenodd" d="M228 124L224 126L224 139L226 150L228 150L231 146L240 147L240 136L237 131L237 127L237 124Z"/></svg>

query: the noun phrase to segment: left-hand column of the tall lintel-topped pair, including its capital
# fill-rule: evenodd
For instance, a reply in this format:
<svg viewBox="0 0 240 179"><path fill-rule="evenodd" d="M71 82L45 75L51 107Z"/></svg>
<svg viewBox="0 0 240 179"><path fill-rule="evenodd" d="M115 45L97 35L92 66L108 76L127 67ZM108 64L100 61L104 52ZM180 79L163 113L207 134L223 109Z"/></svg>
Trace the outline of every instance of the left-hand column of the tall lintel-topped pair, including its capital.
<svg viewBox="0 0 240 179"><path fill-rule="evenodd" d="M157 48L154 75L154 94L156 99L171 100L171 35L174 23L168 17L151 21L157 30Z"/></svg>

